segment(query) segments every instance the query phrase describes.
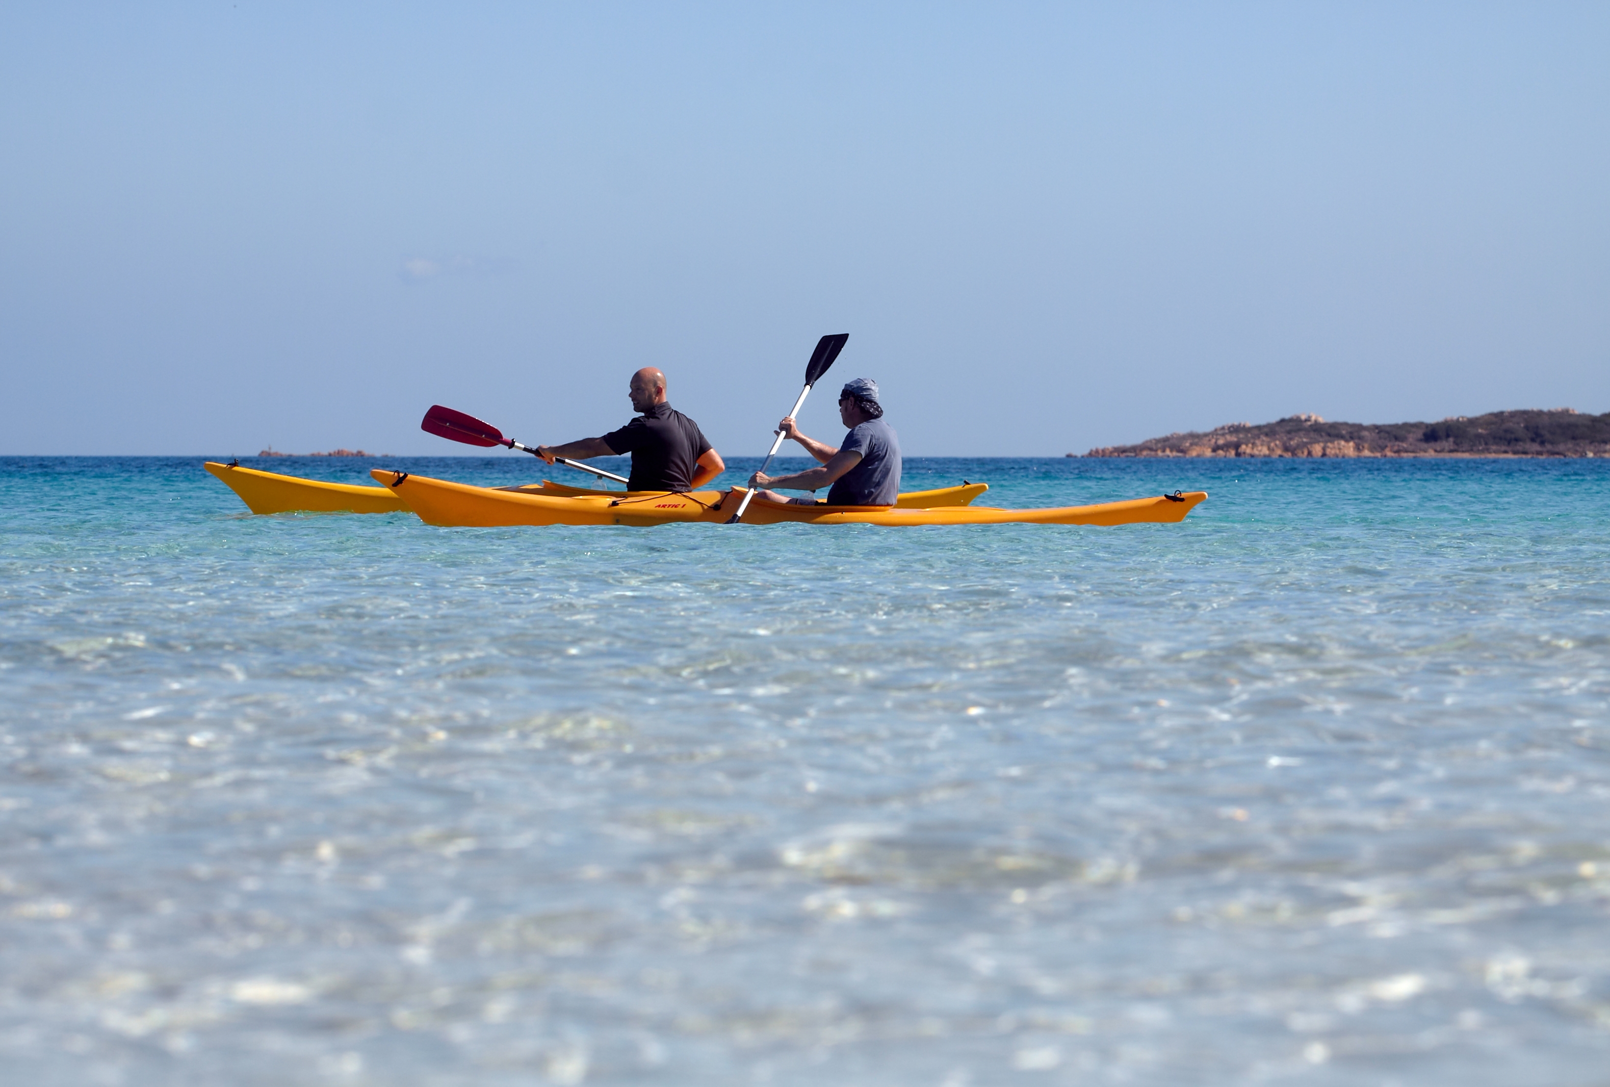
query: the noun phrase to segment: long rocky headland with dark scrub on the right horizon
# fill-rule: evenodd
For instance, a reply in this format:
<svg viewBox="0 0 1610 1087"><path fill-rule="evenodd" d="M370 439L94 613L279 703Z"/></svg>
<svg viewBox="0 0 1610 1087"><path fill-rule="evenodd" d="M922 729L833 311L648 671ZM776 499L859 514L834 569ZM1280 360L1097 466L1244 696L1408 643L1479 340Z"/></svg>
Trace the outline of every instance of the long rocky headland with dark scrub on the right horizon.
<svg viewBox="0 0 1610 1087"><path fill-rule="evenodd" d="M1069 453L1067 456L1077 456ZM1227 424L1087 457L1607 457L1610 412L1570 407L1496 411L1441 422L1344 424L1288 415L1272 424Z"/></svg>

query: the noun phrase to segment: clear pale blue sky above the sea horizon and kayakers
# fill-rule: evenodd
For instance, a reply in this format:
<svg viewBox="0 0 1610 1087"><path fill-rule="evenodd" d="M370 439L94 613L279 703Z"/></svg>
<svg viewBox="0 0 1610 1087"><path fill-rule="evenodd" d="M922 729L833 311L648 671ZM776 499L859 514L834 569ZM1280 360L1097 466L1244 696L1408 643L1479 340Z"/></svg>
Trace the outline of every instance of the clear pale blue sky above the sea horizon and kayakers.
<svg viewBox="0 0 1610 1087"><path fill-rule="evenodd" d="M1610 5L11 3L0 453L1610 411ZM832 396L807 430L837 433Z"/></svg>

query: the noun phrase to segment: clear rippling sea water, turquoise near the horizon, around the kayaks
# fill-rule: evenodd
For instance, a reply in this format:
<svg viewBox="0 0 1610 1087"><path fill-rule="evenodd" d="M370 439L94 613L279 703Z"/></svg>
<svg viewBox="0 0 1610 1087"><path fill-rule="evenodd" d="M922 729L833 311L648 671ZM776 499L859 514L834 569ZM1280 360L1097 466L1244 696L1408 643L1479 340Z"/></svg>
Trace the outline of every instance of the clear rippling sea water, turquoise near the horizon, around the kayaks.
<svg viewBox="0 0 1610 1087"><path fill-rule="evenodd" d="M1604 1082L1610 465L961 477L1211 498L443 530L0 461L14 1082Z"/></svg>

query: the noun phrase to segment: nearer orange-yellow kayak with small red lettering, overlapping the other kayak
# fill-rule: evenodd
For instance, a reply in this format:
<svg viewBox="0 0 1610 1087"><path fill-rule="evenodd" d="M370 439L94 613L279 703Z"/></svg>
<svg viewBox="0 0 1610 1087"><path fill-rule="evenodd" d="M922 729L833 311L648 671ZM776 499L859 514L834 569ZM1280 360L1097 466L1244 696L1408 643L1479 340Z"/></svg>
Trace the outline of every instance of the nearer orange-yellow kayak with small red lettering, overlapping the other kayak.
<svg viewBox="0 0 1610 1087"><path fill-rule="evenodd" d="M625 494L554 494L538 488L496 490L449 483L427 475L374 469L409 509L430 525L665 525L671 522L721 523L744 501L744 488L692 491L689 494L638 491ZM980 485L972 485L980 486ZM980 506L937 506L903 509L889 506L794 506L755 499L744 523L778 525L1133 525L1180 522L1208 498L1206 491L1137 498L1098 506L1059 509L992 509Z"/></svg>

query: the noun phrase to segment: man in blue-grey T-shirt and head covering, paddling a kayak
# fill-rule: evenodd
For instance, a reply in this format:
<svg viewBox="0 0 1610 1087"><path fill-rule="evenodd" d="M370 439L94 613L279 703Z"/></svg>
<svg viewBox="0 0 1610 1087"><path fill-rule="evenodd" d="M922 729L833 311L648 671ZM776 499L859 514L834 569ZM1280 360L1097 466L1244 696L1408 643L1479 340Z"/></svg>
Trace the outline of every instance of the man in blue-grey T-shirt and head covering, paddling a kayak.
<svg viewBox="0 0 1610 1087"><path fill-rule="evenodd" d="M839 393L839 419L850 433L837 449L807 438L792 415L779 422L778 430L805 446L821 467L794 475L755 472L749 480L749 485L757 488L755 496L771 502L813 506L815 498L791 499L758 488L815 491L831 485L828 506L894 506L900 498L900 438L895 436L895 428L884 422L884 407L877 403L877 382L866 377L848 382Z"/></svg>

